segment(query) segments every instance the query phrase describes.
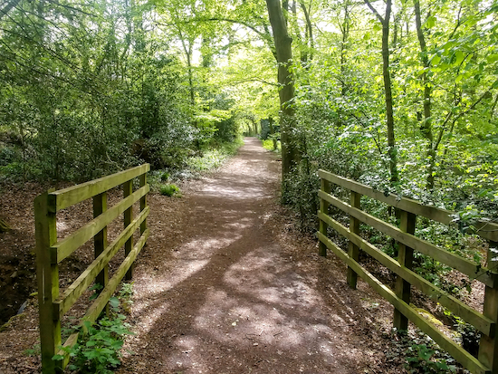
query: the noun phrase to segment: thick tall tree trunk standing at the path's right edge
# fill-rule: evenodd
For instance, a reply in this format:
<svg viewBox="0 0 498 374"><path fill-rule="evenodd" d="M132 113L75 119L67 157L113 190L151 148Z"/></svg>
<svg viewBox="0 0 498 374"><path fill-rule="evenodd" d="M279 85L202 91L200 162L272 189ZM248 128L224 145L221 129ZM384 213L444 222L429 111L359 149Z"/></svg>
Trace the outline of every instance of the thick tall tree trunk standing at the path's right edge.
<svg viewBox="0 0 498 374"><path fill-rule="evenodd" d="M283 17L280 0L266 0L270 24L273 30L273 42L275 43L276 57L278 62L278 82L280 85L280 109L281 109L281 145L282 145L282 176L283 184L287 176L298 161L298 152L292 144L292 129L294 128L294 82L292 72L289 70L292 63L292 38L287 32L287 24ZM284 192L284 191L283 191Z"/></svg>

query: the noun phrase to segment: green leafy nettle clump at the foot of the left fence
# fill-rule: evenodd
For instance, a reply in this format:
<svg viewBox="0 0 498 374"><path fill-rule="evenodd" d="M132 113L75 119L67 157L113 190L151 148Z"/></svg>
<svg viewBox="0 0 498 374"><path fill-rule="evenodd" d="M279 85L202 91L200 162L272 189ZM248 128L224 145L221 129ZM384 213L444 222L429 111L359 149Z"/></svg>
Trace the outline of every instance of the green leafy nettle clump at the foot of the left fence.
<svg viewBox="0 0 498 374"><path fill-rule="evenodd" d="M126 316L121 312L120 300L123 301L122 308L126 312L131 303L131 292L131 284L125 283L119 297L111 297L109 300L109 317L103 317L93 324L85 321L82 326L74 329L85 333L80 334L74 346L61 347L71 358L69 369L83 374L110 374L112 369L118 368L124 339L133 334L129 330L129 323L125 321ZM64 356L59 354L53 356L53 360L63 359Z"/></svg>

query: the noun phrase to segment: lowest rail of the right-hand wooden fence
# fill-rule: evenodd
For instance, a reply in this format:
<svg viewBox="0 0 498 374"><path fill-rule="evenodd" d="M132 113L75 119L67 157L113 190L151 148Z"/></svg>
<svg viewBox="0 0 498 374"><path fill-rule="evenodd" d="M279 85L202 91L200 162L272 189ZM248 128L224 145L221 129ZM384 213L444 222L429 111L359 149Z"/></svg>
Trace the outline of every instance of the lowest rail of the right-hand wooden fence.
<svg viewBox="0 0 498 374"><path fill-rule="evenodd" d="M337 254L342 261L359 274L359 276L376 291L380 296L393 304L395 308L405 314L410 321L413 321L417 327L429 335L436 341L439 346L453 356L455 360L460 362L465 369L469 369L474 374L492 374L491 369L487 368L479 360L475 359L469 352L460 347L455 341L451 340L444 333L439 331L435 325L420 316L416 310L410 307L407 302L404 302L397 297L396 293L390 290L385 284L380 283L376 277L361 267L356 261L352 260L348 254L335 245L329 238L318 233L319 239L327 245L327 247Z"/></svg>

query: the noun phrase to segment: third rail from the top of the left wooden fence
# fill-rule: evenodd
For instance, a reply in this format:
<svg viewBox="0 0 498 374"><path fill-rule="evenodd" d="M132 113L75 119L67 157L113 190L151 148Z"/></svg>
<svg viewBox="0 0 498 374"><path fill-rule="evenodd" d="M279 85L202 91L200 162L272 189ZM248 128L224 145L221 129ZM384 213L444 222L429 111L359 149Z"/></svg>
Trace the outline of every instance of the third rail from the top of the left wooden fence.
<svg viewBox="0 0 498 374"><path fill-rule="evenodd" d="M135 230L139 228L142 222L145 221L150 209L146 207L133 222L123 230L120 235L90 264L90 266L69 286L63 295L53 303L54 312L62 316L65 312L69 311L74 302L76 302L81 294L93 282L96 274L100 273L110 259L120 250L128 238L133 235Z"/></svg>

